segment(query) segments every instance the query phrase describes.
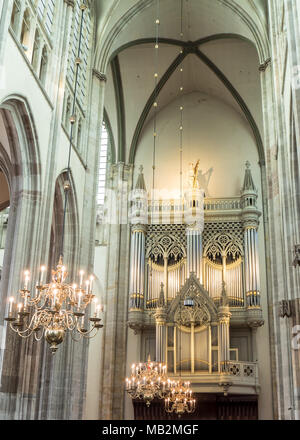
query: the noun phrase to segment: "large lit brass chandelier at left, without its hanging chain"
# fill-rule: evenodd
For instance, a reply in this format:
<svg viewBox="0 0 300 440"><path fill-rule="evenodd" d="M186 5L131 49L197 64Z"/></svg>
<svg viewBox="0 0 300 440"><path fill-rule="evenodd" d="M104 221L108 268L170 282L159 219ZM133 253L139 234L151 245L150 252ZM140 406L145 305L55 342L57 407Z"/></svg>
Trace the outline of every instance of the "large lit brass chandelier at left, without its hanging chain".
<svg viewBox="0 0 300 440"><path fill-rule="evenodd" d="M45 269L42 273L44 272ZM14 310L15 300L11 297L8 317L5 318L10 322L11 329L23 338L34 335L39 341L44 336L50 344L52 353L56 352L57 346L63 342L67 332L71 333L73 339L76 336L92 338L103 327L100 324L102 311L100 306L95 316L89 318L91 328L89 330L84 328L88 305L94 298L91 283L87 281L86 290L83 290L77 288L76 284L65 283L67 276L66 267L60 259L56 270L52 271L51 282L36 286L37 293L33 298L27 288L29 275L26 273L24 289L20 290L23 303L20 302ZM81 278L82 276L83 274L80 273ZM42 276L40 280L43 280Z"/></svg>

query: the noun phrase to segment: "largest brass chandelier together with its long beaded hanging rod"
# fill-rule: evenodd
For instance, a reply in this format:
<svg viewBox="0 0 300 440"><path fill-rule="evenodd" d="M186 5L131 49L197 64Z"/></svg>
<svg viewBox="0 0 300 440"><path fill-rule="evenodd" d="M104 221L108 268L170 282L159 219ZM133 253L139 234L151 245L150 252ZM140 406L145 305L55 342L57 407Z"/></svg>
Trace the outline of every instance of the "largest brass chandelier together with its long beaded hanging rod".
<svg viewBox="0 0 300 440"><path fill-rule="evenodd" d="M97 304L97 299L93 294L94 277L90 276L83 281L84 272L79 272L79 283L68 284L66 279L68 272L63 264L63 245L64 232L66 222L66 209L68 201L68 192L71 188L70 184L70 159L72 151L73 127L76 122L75 105L76 92L78 86L79 66L82 62L81 43L84 12L87 6L83 2L80 5L81 22L78 44L78 56L75 60L75 88L72 116L70 117L70 143L68 153L67 180L64 184L65 200L63 212L63 227L61 237L61 252L58 265L52 270L51 281L46 282L47 268L41 267L39 280L35 283L35 292L32 295L29 289L30 272L24 271L24 287L19 291L19 300L15 301L14 297L9 299L8 316L5 318L10 324L10 328L22 338L29 338L34 335L36 341L40 341L43 337L50 345L51 352L57 351L58 345L61 344L67 332L71 333L74 340L80 338L92 338L97 331L103 327L100 324L100 313L103 307ZM91 303L93 302L93 313L91 312ZM77 337L77 338L76 338Z"/></svg>

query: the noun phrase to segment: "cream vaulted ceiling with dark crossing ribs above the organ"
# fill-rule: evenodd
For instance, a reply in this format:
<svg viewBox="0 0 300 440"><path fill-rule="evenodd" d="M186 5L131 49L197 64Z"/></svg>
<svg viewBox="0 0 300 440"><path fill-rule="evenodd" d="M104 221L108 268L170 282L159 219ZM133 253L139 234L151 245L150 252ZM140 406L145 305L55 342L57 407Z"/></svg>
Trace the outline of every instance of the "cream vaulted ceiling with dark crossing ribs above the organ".
<svg viewBox="0 0 300 440"><path fill-rule="evenodd" d="M125 7L127 3L127 8ZM122 0L119 8L104 1L99 7L102 38L110 22L123 18L137 1ZM116 156L134 162L143 128L153 116L156 1L133 15L110 45L105 96L106 114ZM179 67L184 69L184 93L203 92L233 107L247 124L262 153L262 110L258 52L249 27L226 0L184 0L183 41L180 40L180 0L161 0L159 9L159 110L178 97ZM257 26L265 25L266 2L241 0ZM99 6L99 5L98 5ZM102 9L101 9L102 8ZM120 8L124 8L120 10ZM109 19L105 23L105 12ZM102 15L101 15L102 13ZM100 31L99 31L100 32ZM180 51L183 53L180 53Z"/></svg>

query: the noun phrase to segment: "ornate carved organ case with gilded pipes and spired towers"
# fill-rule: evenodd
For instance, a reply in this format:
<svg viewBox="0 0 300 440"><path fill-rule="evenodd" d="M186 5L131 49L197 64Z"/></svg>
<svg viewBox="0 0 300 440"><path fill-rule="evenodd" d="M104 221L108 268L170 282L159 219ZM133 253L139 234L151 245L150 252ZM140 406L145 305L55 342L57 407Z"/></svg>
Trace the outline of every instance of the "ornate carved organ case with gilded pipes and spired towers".
<svg viewBox="0 0 300 440"><path fill-rule="evenodd" d="M179 201L149 201L142 171L132 200L129 325L141 360L166 362L199 390L257 394L260 212L249 164L241 197L204 199L204 228ZM191 214L203 192L190 189L185 203Z"/></svg>

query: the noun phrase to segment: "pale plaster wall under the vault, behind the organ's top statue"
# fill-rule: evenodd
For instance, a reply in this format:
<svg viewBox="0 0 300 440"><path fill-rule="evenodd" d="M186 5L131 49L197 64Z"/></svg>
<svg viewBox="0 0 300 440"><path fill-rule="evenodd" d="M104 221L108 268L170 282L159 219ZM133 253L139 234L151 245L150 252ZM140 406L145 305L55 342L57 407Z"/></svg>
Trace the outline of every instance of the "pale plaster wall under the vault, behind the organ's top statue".
<svg viewBox="0 0 300 440"><path fill-rule="evenodd" d="M179 125L181 100L177 99L157 115L156 188L179 191ZM204 173L213 168L208 185L210 197L239 196L245 162L249 160L254 181L260 183L255 141L246 120L223 101L204 93L184 97L183 174L189 163L200 159ZM147 190L152 188L153 121L145 127L135 159L135 179L144 165Z"/></svg>

